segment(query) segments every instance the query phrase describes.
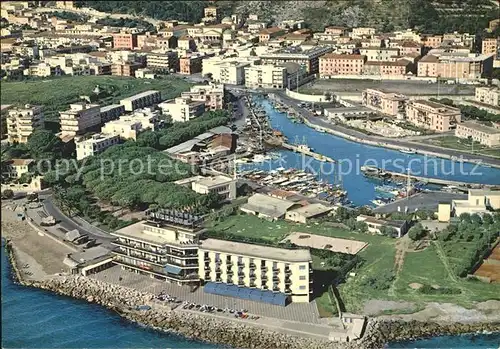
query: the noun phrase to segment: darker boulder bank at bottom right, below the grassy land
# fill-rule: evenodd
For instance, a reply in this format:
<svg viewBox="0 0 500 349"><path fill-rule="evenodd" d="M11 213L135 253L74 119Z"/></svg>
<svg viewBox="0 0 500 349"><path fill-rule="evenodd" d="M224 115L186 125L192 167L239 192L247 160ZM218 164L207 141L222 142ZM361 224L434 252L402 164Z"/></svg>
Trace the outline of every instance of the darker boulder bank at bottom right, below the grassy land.
<svg viewBox="0 0 500 349"><path fill-rule="evenodd" d="M437 323L403 320L371 319L362 339L364 348L382 348L388 342L408 341L420 338L458 335L476 332L498 332L500 322L491 323Z"/></svg>

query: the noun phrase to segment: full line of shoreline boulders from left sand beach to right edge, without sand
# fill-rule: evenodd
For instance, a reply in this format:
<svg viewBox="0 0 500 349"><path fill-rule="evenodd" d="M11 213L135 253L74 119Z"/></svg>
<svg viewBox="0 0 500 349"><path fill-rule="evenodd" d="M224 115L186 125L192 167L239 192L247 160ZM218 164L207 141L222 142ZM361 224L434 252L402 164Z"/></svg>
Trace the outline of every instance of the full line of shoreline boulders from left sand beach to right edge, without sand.
<svg viewBox="0 0 500 349"><path fill-rule="evenodd" d="M156 330L184 336L188 339L224 344L237 348L382 348L388 342L406 341L438 335L457 335L482 331L500 331L500 322L492 323L436 323L403 320L370 319L364 337L350 343L292 336L265 328L206 315L155 307L153 295L130 288L104 283L83 276L54 276L46 280L25 279L18 268L16 253L11 243L6 250L16 282L59 295L100 304L114 310L129 321ZM149 304L147 311L137 311L137 305Z"/></svg>

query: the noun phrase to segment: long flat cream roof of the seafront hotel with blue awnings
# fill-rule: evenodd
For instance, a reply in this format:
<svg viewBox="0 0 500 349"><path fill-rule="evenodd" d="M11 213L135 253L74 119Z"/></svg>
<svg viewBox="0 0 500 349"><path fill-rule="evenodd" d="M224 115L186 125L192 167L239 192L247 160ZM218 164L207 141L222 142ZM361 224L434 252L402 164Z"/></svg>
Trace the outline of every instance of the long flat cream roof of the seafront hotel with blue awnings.
<svg viewBox="0 0 500 349"><path fill-rule="evenodd" d="M242 242L206 239L201 241L200 249L250 256L280 262L309 262L312 260L309 250L287 250L283 248L245 244Z"/></svg>

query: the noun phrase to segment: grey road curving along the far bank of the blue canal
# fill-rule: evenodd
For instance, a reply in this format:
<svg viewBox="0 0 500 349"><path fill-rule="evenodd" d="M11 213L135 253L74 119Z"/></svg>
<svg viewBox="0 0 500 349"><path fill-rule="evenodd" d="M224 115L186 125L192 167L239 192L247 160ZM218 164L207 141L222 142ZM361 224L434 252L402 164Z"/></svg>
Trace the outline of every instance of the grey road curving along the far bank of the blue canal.
<svg viewBox="0 0 500 349"><path fill-rule="evenodd" d="M376 143L381 143L382 146L394 146L394 147L401 147L401 148L412 148L412 149L417 149L422 152L428 152L428 153L438 153L438 154L443 154L445 156L456 156L460 157L463 156L464 159L471 159L475 160L476 162L481 162L484 164L490 164L495 167L500 167L500 159L497 158L492 158L489 156L484 156L484 155L479 155L479 154L471 154L468 152L464 151L459 151L459 150L454 150L454 149L448 149L448 148L442 148L434 145L429 145L429 144L421 144L421 143L415 143L411 142L405 139L392 139L392 138L385 138L385 137L379 137L379 136L372 136L372 135L367 135L365 133L352 130L350 128L346 128L344 126L340 125L334 125L322 118L314 116L311 112L304 108L300 108L297 106L298 101L295 99L292 99L288 97L284 92L278 91L274 92L276 96L279 97L279 99L284 103L287 104L288 106L293 107L295 110L297 110L302 117L307 119L311 124L316 125L316 126L321 126L327 129L331 129L333 131L337 131L343 134L346 134L351 137L356 137L360 138L366 141L371 141L371 142L376 142Z"/></svg>

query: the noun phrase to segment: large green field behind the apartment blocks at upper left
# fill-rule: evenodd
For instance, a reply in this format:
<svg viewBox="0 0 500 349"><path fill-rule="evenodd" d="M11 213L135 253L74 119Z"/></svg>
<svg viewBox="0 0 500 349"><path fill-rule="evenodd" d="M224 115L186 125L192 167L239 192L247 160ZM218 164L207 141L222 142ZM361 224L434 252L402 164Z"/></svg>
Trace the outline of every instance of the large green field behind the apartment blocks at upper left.
<svg viewBox="0 0 500 349"><path fill-rule="evenodd" d="M104 106L117 103L120 99L147 90L159 90L162 97L173 98L189 89L190 84L176 77L156 80L143 80L119 76L65 76L46 80L2 82L1 104L38 104L44 105L45 117L57 121L61 110L70 103L80 100L80 96L92 95L99 85L109 94L97 102Z"/></svg>

